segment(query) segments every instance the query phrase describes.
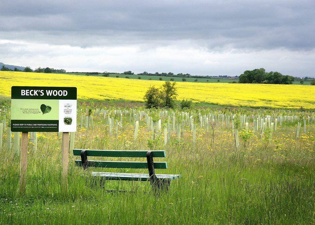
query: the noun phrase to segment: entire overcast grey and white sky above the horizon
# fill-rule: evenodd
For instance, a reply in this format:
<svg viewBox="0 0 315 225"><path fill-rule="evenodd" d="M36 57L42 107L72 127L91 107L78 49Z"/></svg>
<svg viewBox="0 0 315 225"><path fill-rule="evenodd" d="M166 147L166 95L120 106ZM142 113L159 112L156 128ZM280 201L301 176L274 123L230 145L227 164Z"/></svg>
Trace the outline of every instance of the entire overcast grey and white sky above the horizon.
<svg viewBox="0 0 315 225"><path fill-rule="evenodd" d="M0 62L66 71L315 76L315 1L0 0Z"/></svg>

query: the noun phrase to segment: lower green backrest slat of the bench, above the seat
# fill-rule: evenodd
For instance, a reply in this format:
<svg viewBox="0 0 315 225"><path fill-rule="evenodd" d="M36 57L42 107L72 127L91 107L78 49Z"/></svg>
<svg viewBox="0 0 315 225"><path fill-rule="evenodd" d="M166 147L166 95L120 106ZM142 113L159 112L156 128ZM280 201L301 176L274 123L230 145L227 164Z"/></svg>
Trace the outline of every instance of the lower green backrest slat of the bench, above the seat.
<svg viewBox="0 0 315 225"><path fill-rule="evenodd" d="M81 160L74 160L77 166L82 166ZM154 162L155 169L167 169L167 162ZM147 169L147 162L121 162L121 161L88 161L89 167L102 168L132 168L132 169Z"/></svg>

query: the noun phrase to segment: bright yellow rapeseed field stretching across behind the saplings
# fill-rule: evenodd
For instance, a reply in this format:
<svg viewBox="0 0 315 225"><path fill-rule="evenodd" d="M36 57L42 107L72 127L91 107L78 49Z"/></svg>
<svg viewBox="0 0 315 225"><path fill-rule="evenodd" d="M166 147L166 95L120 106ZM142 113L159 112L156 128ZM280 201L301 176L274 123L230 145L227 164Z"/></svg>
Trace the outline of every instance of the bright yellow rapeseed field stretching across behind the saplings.
<svg viewBox="0 0 315 225"><path fill-rule="evenodd" d="M67 74L0 71L0 95L11 96L11 86L73 86L78 99L143 101L150 85L164 81ZM315 108L315 86L178 82L178 99L223 106Z"/></svg>

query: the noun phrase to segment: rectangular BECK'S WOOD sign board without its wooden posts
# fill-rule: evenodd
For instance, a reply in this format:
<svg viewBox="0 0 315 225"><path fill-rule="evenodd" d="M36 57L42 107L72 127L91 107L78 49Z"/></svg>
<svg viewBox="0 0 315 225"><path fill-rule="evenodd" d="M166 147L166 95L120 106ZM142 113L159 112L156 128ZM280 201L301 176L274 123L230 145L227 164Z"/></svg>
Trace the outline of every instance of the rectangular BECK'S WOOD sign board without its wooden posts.
<svg viewBox="0 0 315 225"><path fill-rule="evenodd" d="M11 88L11 131L75 132L76 87Z"/></svg>

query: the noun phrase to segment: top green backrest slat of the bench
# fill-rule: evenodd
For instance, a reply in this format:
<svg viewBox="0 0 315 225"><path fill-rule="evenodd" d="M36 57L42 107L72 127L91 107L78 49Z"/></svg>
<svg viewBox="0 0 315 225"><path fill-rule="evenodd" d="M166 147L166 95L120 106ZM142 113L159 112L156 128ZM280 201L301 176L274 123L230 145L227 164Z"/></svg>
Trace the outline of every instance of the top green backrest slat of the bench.
<svg viewBox="0 0 315 225"><path fill-rule="evenodd" d="M146 158L148 151L125 151L125 150L92 150L92 149L73 149L73 155L80 155L82 150L86 150L87 156L102 157L141 157ZM152 151L153 157L165 157L165 151Z"/></svg>

